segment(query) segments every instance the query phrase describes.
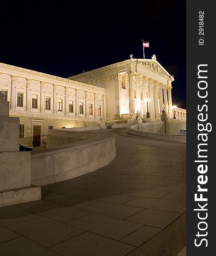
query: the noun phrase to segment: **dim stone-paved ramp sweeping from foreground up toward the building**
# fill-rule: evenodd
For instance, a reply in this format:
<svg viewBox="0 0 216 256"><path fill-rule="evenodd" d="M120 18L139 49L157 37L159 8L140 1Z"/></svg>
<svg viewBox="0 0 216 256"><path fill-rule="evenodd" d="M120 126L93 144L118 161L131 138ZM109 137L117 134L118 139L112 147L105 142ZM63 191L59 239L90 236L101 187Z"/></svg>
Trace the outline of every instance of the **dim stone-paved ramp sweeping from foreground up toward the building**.
<svg viewBox="0 0 216 256"><path fill-rule="evenodd" d="M111 132L109 165L0 208L0 256L176 256L185 247L186 144Z"/></svg>

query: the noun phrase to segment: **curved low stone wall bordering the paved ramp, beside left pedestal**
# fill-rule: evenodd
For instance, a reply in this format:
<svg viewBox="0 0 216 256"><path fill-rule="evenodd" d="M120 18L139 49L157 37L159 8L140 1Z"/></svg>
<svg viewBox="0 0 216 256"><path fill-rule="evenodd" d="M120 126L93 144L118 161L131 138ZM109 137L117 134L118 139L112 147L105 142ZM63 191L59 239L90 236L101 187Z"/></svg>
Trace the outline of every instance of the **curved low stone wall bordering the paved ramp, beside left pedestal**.
<svg viewBox="0 0 216 256"><path fill-rule="evenodd" d="M86 136L86 140L31 151L33 185L78 177L106 166L115 158L115 134L80 132L80 136Z"/></svg>

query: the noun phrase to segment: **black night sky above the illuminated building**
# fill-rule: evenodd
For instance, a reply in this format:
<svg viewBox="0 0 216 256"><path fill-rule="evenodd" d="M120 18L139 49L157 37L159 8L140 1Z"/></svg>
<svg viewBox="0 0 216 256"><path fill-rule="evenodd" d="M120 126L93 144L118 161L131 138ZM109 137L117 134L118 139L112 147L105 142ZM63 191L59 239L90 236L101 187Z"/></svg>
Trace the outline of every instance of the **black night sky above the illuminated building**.
<svg viewBox="0 0 216 256"><path fill-rule="evenodd" d="M34 2L34 3L30 3ZM6 1L0 62L69 77L145 58L174 76L173 105L186 108L186 1Z"/></svg>

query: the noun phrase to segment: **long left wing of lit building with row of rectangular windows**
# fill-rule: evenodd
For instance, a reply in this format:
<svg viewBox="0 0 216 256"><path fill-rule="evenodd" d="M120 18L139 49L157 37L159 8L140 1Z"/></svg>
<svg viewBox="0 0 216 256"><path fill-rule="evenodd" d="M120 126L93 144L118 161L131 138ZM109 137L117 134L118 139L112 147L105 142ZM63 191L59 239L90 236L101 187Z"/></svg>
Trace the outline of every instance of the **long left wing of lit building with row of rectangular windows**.
<svg viewBox="0 0 216 256"><path fill-rule="evenodd" d="M42 146L49 128L98 126L106 118L107 90L94 85L0 63L0 91L10 116L20 117L25 145Z"/></svg>

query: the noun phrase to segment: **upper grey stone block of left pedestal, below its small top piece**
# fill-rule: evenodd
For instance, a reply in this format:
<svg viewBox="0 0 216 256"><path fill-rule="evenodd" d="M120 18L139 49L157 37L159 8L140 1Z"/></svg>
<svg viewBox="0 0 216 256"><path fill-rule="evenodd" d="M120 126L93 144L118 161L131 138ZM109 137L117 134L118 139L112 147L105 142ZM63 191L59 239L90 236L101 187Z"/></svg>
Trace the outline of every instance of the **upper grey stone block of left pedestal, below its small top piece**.
<svg viewBox="0 0 216 256"><path fill-rule="evenodd" d="M0 116L0 152L19 151L19 117Z"/></svg>

